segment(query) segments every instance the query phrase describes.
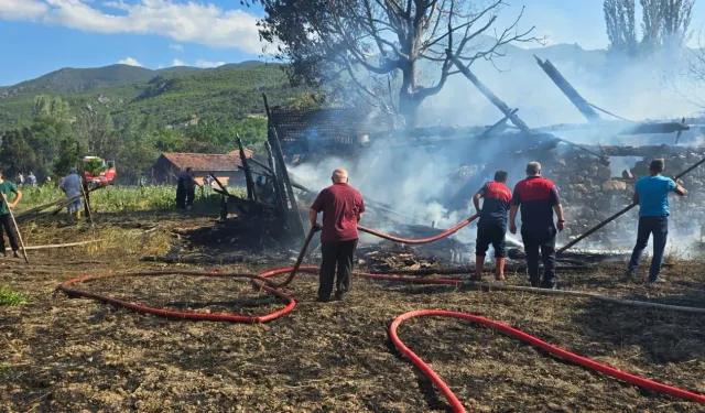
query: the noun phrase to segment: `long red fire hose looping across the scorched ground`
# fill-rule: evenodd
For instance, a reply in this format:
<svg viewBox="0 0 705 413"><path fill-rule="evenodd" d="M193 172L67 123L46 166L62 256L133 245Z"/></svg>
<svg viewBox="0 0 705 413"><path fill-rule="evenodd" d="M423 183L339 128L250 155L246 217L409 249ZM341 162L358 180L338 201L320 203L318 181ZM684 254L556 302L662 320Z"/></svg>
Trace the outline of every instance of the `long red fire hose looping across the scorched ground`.
<svg viewBox="0 0 705 413"><path fill-rule="evenodd" d="M380 238L384 238L391 241L395 241L395 242L403 242L403 243L427 243L427 242L433 242L436 241L438 239L442 239L444 237L448 237L452 233L457 232L460 228L467 226L468 224L470 224L473 220L475 220L477 218L477 215L469 217L465 220L463 220L462 222L459 222L458 225L456 225L455 227L443 231L434 237L430 237L430 238L424 238L424 239L404 239L404 238L398 238L398 237L393 237L387 233L382 233L369 228L364 228L364 227L359 227L359 229L361 231L368 232L368 233L372 233L375 236L378 236ZM66 282L64 282L63 284L59 285L59 290L63 291L64 293L66 293L68 296L70 297L88 297L88 298L95 298L98 301L102 301L106 303L110 303L113 305L118 305L118 306L122 306L126 308L131 308L133 311L137 312L141 312L141 313L149 313L149 314L154 314L154 315L160 315L160 316L166 316L166 317L175 317L175 318L186 318L186 319L203 319L203 320L218 320L218 322L232 322L232 323L267 323L267 322L271 322L275 318L282 317L289 313L291 313L294 307L296 306L296 301L294 300L294 297L292 297L291 295L286 294L285 292L281 291L280 289L289 285L294 278L296 276L296 274L300 271L307 271L307 272L315 272L318 270L318 268L316 267L301 267L301 263L303 262L303 259L305 257L306 250L308 248L308 244L311 243L311 240L314 236L314 233L317 231L316 228L312 228L311 231L308 232L306 240L304 242L304 246L299 254L299 258L296 260L296 263L294 264L294 267L292 268L284 268L284 269L276 269L276 270L272 270L272 271L268 271L268 272L263 272L261 274L246 274L246 273L221 273L221 272L208 272L208 271L142 271L142 272L131 272L131 273L122 273L122 274L109 274L109 275L88 275L88 276L83 276L83 278L77 278L77 279L73 279L73 280L68 280ZM284 274L284 273L289 273L289 276L283 281L283 282L273 282L272 280L270 280L270 278L274 276L274 275L279 275L279 274ZM96 294L96 293L91 293L91 292L87 292L87 291L82 291L82 290L76 290L74 287L72 287L72 285L74 284L78 284L78 283L84 283L84 282L88 282L88 281L95 281L95 280L102 280L102 279L109 279L109 278L124 278L124 276L156 276L156 275L197 275L197 276L231 276L231 278L242 278L242 279L249 279L251 280L258 287L261 287L262 290L264 290L267 293L275 295L282 300L284 300L286 302L286 305L281 308L278 309L273 313L270 314L265 314L265 315L258 315L258 316L245 316L245 315L236 315L236 314L203 314L203 313L191 313L191 312L177 312L177 311L170 311L170 309L163 309L163 308L155 308L155 307L150 307L147 305L142 305L142 304L137 304L137 303L130 303L123 300L119 300L119 298L115 298L115 297L110 297L107 295L102 295L102 294ZM397 281L397 282L405 282L405 283L419 283L419 284L447 284L447 285L460 285L464 283L467 283L467 280L464 279L449 279L449 278L441 278L441 279L426 279L426 278L415 278L415 276L404 276L404 275L394 275L394 274L371 274L371 273L355 273L356 276L361 276L361 278L366 278L366 279L372 279L372 280L387 280L387 281ZM699 313L699 314L705 314L705 308L696 308L696 307L681 307L681 306L674 306L674 305L664 305L664 304L657 304L657 303L646 303L646 302L637 302L637 301L628 301L628 300L621 300L621 298L616 298L616 297L608 297L608 296L604 296L604 295L597 295L597 294L592 294L592 293L584 293L584 292L573 292L573 291L555 291L555 290L540 290L540 289L531 289L531 287L521 287L521 286L511 286L511 285L503 285L503 284L485 284L485 283L471 283L475 285L481 285L485 287L490 287L490 289L498 289L498 290L514 290L514 291L535 291L538 293L542 293L542 294L560 294L560 295L572 295L572 296L586 296L586 297L592 297L592 298L597 298L597 300L605 300L605 301L609 301L609 302L616 302L619 304L627 304L627 305L639 305L639 306L652 306L652 307L658 307L658 308L663 308L663 309L671 309L671 311L681 311L681 312L688 312L688 313ZM449 312L449 311L443 311L443 309L417 309L417 311L412 311L405 314L400 315L399 317L397 317L390 328L389 328L389 334L391 337L392 343L394 344L394 347L404 356L406 357L416 368L419 368L422 373L424 376L426 376L433 383L434 385L443 393L443 395L445 396L445 399L448 401L448 403L451 404L451 406L453 407L453 411L456 413L459 412L465 412L465 407L463 407L463 405L460 404L460 401L457 399L457 396L451 391L451 389L448 388L448 385L429 367L429 365L426 365L419 356L416 356L413 351L411 351L403 343L402 340L399 338L398 334L397 334L397 328L399 327L399 325L404 322L405 319L409 318L413 318L413 317L424 317L424 316L435 316L435 317L453 317L453 318L460 318L460 319L466 319L469 322L474 322L474 323L479 323L482 324L485 326L489 326L491 328L495 328L499 332L502 332L505 334L508 334L512 337L516 337L524 343L528 343L534 347L541 348L554 356L557 356L560 358L563 358L565 360L568 360L571 362L574 362L576 365L583 366L587 369L594 370L594 371L598 371L601 372L604 374L614 377L618 380L622 380L627 383L633 384L633 385L638 385L644 389L649 389L655 392L660 392L663 394L669 394L672 395L674 398L680 398L680 399L684 399L684 400L688 400L688 401L693 401L693 402L697 402L697 403L702 403L705 404L705 395L702 394L697 394L697 393L693 393L683 389L679 389L675 387L671 387L668 384L663 384L663 383L659 383L649 379L644 379L638 376L633 376L633 374L629 374L627 372L614 369L609 366L605 366L601 365L599 362L596 362L594 360L590 360L588 358L585 357L581 357L578 355L575 355L571 351L567 351L565 349L562 349L560 347L555 347L552 346L534 336L531 336L529 334L525 334L519 329L512 328L508 325L485 318L485 317L480 317L477 315L473 315L473 314L468 314L468 313L458 313L458 312Z"/></svg>

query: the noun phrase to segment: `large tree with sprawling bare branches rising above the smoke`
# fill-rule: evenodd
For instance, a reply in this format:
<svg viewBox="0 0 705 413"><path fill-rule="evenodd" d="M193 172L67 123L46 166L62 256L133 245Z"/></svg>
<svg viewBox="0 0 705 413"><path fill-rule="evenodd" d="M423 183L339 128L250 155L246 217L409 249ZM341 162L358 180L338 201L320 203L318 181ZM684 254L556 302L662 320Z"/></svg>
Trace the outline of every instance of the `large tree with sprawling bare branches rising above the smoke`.
<svg viewBox="0 0 705 413"><path fill-rule="evenodd" d="M523 9L508 28L496 29L503 0L484 7L470 0L252 1L264 6L260 35L289 63L292 84L349 81L368 104L401 115L408 128L423 100L458 73L446 50L470 66L501 56L507 44L535 41L533 28L518 30ZM422 79L422 63L435 69L433 81Z"/></svg>

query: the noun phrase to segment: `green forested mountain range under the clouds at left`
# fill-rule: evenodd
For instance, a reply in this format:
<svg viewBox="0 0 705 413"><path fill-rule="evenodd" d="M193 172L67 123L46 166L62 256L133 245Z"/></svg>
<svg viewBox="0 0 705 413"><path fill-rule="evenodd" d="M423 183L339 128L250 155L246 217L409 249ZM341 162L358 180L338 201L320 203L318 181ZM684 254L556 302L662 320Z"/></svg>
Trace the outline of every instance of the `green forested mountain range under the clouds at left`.
<svg viewBox="0 0 705 413"><path fill-rule="evenodd" d="M289 86L281 65L258 61L158 70L122 64L67 67L0 88L0 131L29 124L40 94L62 97L75 115L109 112L118 122L130 113L151 115L159 124L177 124L194 117L263 115L262 93L276 102L299 89Z"/></svg>

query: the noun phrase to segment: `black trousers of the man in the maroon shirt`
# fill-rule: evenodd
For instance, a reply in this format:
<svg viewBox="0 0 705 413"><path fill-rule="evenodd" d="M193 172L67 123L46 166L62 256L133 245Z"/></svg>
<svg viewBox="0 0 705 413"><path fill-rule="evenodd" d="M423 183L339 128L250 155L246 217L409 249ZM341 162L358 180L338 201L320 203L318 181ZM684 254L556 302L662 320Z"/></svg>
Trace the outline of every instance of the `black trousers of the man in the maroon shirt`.
<svg viewBox="0 0 705 413"><path fill-rule="evenodd" d="M350 274L352 273L352 263L355 261L356 248L356 239L349 241L321 243L323 262L321 262L318 298L323 301L330 300L334 280L336 286L335 294L337 297L341 297L350 291ZM335 276L336 267L338 269L337 278Z"/></svg>

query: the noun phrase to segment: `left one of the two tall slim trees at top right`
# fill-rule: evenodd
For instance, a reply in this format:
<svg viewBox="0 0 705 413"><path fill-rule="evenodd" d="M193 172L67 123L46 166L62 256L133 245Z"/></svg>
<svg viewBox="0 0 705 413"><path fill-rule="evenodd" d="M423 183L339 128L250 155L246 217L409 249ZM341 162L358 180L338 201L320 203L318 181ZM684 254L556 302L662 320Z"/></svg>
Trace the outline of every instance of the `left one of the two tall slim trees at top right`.
<svg viewBox="0 0 705 413"><path fill-rule="evenodd" d="M605 0L603 4L609 51L633 55L637 53L634 0Z"/></svg>

